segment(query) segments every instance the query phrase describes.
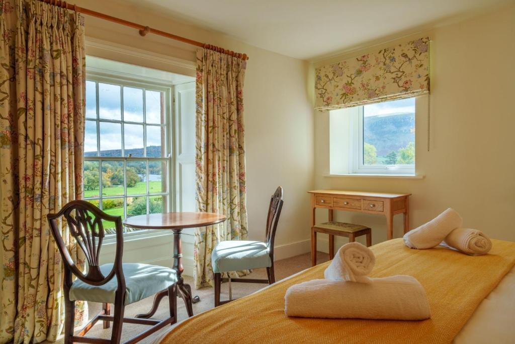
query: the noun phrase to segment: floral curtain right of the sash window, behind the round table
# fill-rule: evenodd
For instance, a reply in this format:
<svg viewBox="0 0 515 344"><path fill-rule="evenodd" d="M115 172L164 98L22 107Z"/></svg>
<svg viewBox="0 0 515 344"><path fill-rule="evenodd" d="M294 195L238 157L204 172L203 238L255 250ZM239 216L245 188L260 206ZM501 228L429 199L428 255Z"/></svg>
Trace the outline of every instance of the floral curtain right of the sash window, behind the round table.
<svg viewBox="0 0 515 344"><path fill-rule="evenodd" d="M247 237L243 84L246 62L197 52L196 182L199 211L227 216L195 233L195 287L213 286L211 252L220 240ZM232 272L243 275L248 271Z"/></svg>

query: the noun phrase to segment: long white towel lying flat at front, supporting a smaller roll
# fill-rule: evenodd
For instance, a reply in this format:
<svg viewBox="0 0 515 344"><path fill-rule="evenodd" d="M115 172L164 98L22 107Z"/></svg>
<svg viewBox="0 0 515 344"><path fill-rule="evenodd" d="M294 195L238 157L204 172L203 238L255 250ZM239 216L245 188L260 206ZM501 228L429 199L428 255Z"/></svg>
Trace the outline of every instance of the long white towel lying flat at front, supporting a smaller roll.
<svg viewBox="0 0 515 344"><path fill-rule="evenodd" d="M288 288L284 313L303 318L424 320L431 309L422 285L411 276L371 283L312 280Z"/></svg>

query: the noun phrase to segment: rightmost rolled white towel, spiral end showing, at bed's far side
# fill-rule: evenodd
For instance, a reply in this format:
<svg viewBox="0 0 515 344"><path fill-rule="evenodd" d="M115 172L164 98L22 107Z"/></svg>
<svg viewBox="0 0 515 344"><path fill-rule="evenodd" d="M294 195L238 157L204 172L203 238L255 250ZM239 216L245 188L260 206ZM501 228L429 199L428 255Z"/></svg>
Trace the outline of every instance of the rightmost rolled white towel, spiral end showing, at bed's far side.
<svg viewBox="0 0 515 344"><path fill-rule="evenodd" d="M471 256L487 254L492 248L492 242L483 232L471 228L456 228L443 242Z"/></svg>

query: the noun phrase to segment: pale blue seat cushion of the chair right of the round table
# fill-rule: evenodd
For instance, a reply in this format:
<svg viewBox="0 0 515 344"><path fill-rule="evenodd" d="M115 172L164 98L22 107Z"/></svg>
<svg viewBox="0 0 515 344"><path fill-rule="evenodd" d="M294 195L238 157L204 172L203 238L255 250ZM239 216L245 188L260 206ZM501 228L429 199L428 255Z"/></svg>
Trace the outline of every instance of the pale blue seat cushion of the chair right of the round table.
<svg viewBox="0 0 515 344"><path fill-rule="evenodd" d="M221 241L211 253L213 272L239 271L272 266L270 249L265 242Z"/></svg>

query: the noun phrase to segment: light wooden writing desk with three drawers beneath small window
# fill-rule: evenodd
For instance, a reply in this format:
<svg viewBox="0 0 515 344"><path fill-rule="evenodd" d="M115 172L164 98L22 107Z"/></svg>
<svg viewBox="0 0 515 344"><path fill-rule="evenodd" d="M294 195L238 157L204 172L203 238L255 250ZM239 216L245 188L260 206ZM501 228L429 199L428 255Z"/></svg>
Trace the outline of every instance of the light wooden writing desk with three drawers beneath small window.
<svg viewBox="0 0 515 344"><path fill-rule="evenodd" d="M329 209L329 221L333 221L333 210L357 211L386 216L388 240L393 238L393 216L404 214L404 233L409 227L410 193L377 193L342 190L313 190L311 193L311 227L315 222L315 209ZM333 247L334 235L329 235L329 247ZM311 230L311 265L315 266L317 234Z"/></svg>

